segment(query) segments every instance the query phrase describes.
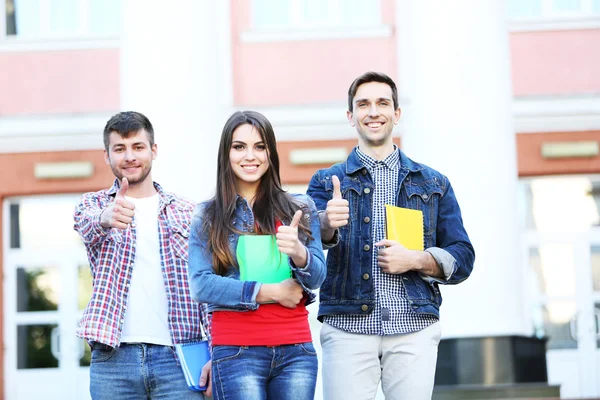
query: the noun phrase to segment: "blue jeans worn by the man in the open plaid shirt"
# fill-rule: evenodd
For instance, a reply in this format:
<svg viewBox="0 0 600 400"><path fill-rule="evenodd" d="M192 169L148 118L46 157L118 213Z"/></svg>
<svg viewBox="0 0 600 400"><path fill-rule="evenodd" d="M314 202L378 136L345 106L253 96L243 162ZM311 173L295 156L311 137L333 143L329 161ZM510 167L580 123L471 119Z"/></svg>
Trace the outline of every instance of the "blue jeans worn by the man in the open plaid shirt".
<svg viewBox="0 0 600 400"><path fill-rule="evenodd" d="M90 366L93 400L201 400L187 387L183 371L169 346L125 343L112 348L95 344Z"/></svg>

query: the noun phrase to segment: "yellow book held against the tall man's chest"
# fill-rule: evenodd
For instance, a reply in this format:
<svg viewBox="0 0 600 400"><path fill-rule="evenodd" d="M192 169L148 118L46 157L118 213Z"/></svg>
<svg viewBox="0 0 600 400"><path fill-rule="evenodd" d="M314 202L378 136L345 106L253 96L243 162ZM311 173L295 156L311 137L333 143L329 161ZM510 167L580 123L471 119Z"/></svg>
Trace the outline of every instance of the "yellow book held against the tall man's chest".
<svg viewBox="0 0 600 400"><path fill-rule="evenodd" d="M409 250L424 250L423 211L386 204L385 237Z"/></svg>

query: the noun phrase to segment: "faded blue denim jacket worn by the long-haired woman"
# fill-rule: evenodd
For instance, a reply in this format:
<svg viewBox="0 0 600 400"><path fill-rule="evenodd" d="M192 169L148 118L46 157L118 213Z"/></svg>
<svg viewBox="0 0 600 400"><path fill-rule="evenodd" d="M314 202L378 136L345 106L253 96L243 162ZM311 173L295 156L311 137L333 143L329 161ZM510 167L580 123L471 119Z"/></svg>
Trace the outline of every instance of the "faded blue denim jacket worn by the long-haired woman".
<svg viewBox="0 0 600 400"><path fill-rule="evenodd" d="M306 204L310 210L310 213L305 213L303 217L309 222L314 239L308 241L308 237L299 231L300 241L307 248L306 267L298 268L291 258L289 261L293 277L300 283L308 296L306 304L310 304L316 297L311 290L319 288L325 279L325 255L321 245L321 228L313 200L304 194L292 194L292 196L299 203ZM249 232L254 226L252 208L242 197L238 196L236 201L233 224L242 232ZM204 202L196 206L192 217L188 265L192 298L199 303L208 303L210 312L256 310L259 306L256 302L256 295L261 283L240 281L238 268L229 268L226 276L217 275L213 270L212 253L207 246L209 239L206 233L201 231L207 205L208 202ZM282 222L290 223L290 221ZM229 235L229 244L233 254L237 248L238 238L238 234L231 233Z"/></svg>

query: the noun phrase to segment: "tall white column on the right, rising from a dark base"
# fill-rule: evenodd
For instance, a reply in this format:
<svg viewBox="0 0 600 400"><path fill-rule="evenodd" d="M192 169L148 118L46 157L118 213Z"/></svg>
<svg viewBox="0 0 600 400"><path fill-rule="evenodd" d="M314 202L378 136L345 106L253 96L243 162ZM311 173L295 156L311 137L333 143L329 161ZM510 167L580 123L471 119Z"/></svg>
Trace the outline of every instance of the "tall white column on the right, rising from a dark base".
<svg viewBox="0 0 600 400"><path fill-rule="evenodd" d="M449 177L476 252L442 288L444 337L530 334L503 1L397 0L402 148Z"/></svg>

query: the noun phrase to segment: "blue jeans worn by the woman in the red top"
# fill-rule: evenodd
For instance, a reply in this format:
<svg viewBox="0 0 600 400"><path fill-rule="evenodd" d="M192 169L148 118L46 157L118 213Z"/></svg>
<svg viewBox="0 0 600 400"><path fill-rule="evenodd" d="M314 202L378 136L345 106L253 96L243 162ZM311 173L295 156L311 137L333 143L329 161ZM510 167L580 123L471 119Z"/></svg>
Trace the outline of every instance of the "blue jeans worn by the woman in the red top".
<svg viewBox="0 0 600 400"><path fill-rule="evenodd" d="M312 343L285 346L215 346L215 400L313 400L317 353Z"/></svg>

